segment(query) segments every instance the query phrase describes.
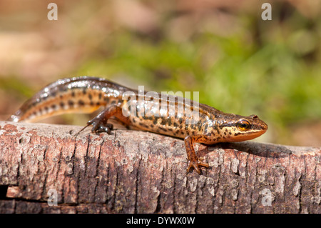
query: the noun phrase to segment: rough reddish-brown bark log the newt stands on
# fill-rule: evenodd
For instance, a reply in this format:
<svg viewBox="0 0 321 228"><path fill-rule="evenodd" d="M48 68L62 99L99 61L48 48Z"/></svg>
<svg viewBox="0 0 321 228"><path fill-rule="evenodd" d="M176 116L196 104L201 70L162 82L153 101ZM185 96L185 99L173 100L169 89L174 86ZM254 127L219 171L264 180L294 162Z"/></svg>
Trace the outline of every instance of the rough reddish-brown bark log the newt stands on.
<svg viewBox="0 0 321 228"><path fill-rule="evenodd" d="M321 149L0 122L0 213L321 213ZM49 196L58 205L48 204Z"/></svg>

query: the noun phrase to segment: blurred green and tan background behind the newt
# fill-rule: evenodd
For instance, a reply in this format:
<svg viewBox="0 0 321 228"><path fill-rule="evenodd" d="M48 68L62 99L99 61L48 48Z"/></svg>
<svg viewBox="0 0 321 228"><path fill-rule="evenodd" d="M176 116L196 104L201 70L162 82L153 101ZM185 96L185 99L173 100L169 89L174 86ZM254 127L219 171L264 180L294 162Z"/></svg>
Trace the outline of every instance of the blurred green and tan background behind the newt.
<svg viewBox="0 0 321 228"><path fill-rule="evenodd" d="M264 2L272 21L261 19ZM315 0L1 0L0 117L56 79L102 76L199 91L201 103L265 120L257 141L321 146L320 13Z"/></svg>

